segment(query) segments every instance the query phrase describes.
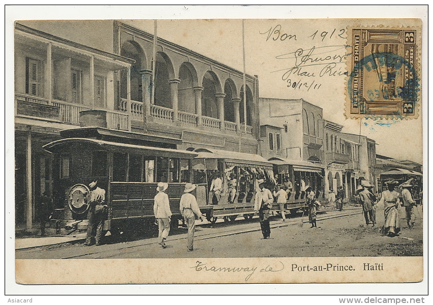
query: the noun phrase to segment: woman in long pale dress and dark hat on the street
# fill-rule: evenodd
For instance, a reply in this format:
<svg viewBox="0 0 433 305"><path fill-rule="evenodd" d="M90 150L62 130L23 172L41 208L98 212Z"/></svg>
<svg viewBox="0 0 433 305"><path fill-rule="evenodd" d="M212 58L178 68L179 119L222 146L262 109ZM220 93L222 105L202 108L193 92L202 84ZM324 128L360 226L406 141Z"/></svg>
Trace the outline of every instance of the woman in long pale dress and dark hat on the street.
<svg viewBox="0 0 433 305"><path fill-rule="evenodd" d="M394 237L400 232L400 217L398 216L398 208L400 200L398 192L394 190L398 181L387 182L388 189L382 192L382 198L379 203L384 204L385 224L382 227L381 233L388 234L389 237Z"/></svg>

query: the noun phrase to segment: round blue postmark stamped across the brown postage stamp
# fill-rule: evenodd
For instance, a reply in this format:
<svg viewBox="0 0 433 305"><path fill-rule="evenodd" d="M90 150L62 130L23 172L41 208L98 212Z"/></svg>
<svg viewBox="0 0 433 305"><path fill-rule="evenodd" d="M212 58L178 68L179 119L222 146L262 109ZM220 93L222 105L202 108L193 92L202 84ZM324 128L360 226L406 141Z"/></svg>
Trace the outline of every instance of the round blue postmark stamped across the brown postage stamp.
<svg viewBox="0 0 433 305"><path fill-rule="evenodd" d="M413 61L413 60L412 60ZM363 80L360 73L365 71L376 71L378 88L369 89L365 94L362 92ZM403 86L395 86L398 79L404 78ZM403 83L403 82L402 82ZM393 113L384 113L388 118L403 119L413 115L417 106L419 82L414 65L408 60L391 52L379 52L365 56L354 63L352 73L349 75L348 93L351 101L351 109L356 108L358 113L366 115L365 118L373 120L383 115L367 114L365 104L368 101L395 101L401 100L403 106ZM355 113L355 112L352 112Z"/></svg>

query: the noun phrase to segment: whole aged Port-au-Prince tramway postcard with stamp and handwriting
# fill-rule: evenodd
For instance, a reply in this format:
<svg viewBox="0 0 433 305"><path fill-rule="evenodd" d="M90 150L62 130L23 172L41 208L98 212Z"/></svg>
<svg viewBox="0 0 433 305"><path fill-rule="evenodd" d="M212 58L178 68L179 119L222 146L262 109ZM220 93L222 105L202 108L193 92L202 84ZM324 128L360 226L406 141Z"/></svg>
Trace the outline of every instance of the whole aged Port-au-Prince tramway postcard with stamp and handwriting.
<svg viewBox="0 0 433 305"><path fill-rule="evenodd" d="M424 281L424 30L15 19L16 283Z"/></svg>

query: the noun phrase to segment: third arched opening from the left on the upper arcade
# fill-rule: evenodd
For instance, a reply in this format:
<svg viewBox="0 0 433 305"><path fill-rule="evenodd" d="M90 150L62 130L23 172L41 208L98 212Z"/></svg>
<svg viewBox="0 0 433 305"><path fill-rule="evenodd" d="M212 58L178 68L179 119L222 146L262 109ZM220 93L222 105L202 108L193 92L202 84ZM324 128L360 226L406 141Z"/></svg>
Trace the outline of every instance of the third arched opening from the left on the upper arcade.
<svg viewBox="0 0 433 305"><path fill-rule="evenodd" d="M195 113L194 86L197 79L194 67L189 63L182 63L179 68L180 83L177 89L178 107L180 111Z"/></svg>

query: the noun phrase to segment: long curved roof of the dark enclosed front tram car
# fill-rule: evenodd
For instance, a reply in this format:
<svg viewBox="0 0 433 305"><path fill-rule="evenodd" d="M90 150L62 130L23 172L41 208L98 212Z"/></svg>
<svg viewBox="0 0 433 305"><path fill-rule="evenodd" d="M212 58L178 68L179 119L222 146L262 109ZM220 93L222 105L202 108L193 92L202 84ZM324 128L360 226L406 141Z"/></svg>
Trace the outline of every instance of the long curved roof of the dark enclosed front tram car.
<svg viewBox="0 0 433 305"><path fill-rule="evenodd" d="M154 155L160 157L192 159L198 155L198 153L193 153L192 151L188 151L188 150L117 143L117 142L109 142L109 141L87 139L87 138L60 139L44 145L43 148L47 151L50 151L51 153L54 153L57 149L61 149L62 146L70 143L89 143L89 144L95 144L97 146L100 146L101 148L106 150L121 150L124 152L137 153L137 154L143 154L147 152L145 153L145 155L151 155L149 153L154 153Z"/></svg>

